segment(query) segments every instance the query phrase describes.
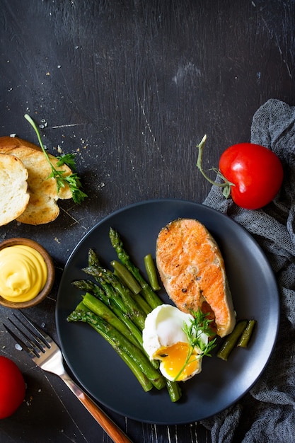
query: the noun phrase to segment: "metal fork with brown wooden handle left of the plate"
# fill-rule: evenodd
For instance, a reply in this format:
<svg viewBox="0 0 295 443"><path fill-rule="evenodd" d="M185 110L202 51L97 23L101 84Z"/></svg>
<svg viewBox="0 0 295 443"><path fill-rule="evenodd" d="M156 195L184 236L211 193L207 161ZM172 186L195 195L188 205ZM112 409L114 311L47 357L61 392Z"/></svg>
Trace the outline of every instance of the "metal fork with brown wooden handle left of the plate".
<svg viewBox="0 0 295 443"><path fill-rule="evenodd" d="M37 366L47 372L56 374L64 381L66 386L71 389L74 395L79 399L79 401L81 401L88 412L91 413L93 418L96 419L113 442L132 443L127 435L125 435L125 433L122 432L119 427L117 427L111 418L108 417L108 415L106 415L103 410L101 410L98 405L96 405L96 403L94 403L91 398L79 388L79 386L68 374L66 374L63 364L62 351L59 349L54 340L52 340L52 338L47 335L47 333L45 333L40 326L37 326L37 324L30 320L30 318L28 318L28 316L26 316L23 312L19 311L19 313L21 313L23 318L22 320L14 313L13 316L17 318L18 322L21 323L23 328L25 328L26 332L24 332L23 328L18 326L16 323L13 323L10 318L8 318L8 321L10 321L18 330L18 333L22 335L23 340L3 323L7 332L14 338L14 340L16 340L16 343L18 343L23 350L28 352L30 357L33 359L33 362L35 362Z"/></svg>

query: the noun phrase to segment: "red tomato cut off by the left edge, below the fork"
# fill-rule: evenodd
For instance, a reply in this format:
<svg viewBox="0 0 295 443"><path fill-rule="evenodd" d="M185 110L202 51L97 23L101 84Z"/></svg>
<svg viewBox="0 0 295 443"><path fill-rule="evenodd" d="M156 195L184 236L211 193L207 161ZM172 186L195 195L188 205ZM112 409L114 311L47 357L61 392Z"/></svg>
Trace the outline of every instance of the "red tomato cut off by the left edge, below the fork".
<svg viewBox="0 0 295 443"><path fill-rule="evenodd" d="M25 398L25 381L16 364L0 356L0 419L12 415Z"/></svg>

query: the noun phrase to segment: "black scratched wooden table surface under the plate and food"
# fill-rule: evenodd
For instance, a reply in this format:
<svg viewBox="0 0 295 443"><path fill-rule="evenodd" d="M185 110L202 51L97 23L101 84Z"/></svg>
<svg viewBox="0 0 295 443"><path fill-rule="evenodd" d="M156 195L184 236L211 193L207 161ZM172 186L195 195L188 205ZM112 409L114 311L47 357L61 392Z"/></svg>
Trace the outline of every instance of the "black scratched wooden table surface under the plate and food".
<svg viewBox="0 0 295 443"><path fill-rule="evenodd" d="M81 205L59 201L59 217L45 226L0 227L1 241L33 238L52 255L54 289L27 313L57 341L59 281L89 229L142 200L202 202L210 185L197 172L195 146L203 135L205 164L217 166L226 147L249 141L253 113L268 98L294 105L294 17L293 0L1 0L0 136L37 143L23 117L30 114L52 154L76 153L88 194ZM1 420L0 442L110 442L57 376L15 348L7 316L1 307L0 355L18 364L27 389ZM198 422L108 413L134 443L211 440Z"/></svg>

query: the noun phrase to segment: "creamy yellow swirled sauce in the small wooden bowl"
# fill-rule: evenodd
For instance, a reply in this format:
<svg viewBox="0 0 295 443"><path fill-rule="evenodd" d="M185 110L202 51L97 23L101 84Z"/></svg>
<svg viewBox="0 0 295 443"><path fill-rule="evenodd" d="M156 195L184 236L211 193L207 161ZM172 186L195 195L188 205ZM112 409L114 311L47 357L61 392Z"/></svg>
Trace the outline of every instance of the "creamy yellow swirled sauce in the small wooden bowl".
<svg viewBox="0 0 295 443"><path fill-rule="evenodd" d="M13 245L0 251L0 295L8 301L33 299L45 286L47 265L34 248Z"/></svg>

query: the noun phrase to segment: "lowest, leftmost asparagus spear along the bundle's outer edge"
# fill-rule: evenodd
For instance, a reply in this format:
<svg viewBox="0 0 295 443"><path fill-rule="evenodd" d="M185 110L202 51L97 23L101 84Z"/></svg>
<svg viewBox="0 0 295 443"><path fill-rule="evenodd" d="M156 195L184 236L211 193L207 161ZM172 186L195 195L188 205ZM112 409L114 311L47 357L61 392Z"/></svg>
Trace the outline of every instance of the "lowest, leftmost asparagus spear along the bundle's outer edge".
<svg viewBox="0 0 295 443"><path fill-rule="evenodd" d="M116 328L103 318L96 316L94 313L86 311L73 311L67 318L68 321L84 321L93 326L105 339L112 341L116 350L125 352L134 362L137 363L141 371L147 376L156 389L163 389L166 381L163 376L155 369L149 359L136 346L127 340Z"/></svg>

